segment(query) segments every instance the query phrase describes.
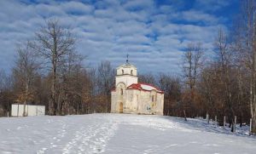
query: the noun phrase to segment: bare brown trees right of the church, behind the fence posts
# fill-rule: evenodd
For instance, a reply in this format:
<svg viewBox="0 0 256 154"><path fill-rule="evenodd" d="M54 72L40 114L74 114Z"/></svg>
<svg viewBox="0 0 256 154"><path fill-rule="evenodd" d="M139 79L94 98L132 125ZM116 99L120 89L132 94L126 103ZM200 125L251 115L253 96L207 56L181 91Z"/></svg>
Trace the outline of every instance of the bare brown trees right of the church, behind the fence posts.
<svg viewBox="0 0 256 154"><path fill-rule="evenodd" d="M145 82L165 91L165 115L224 117L233 131L235 118L256 133L256 22L254 0L241 1L230 31L219 28L209 53L204 44L189 43L183 52L181 76L146 74Z"/></svg>

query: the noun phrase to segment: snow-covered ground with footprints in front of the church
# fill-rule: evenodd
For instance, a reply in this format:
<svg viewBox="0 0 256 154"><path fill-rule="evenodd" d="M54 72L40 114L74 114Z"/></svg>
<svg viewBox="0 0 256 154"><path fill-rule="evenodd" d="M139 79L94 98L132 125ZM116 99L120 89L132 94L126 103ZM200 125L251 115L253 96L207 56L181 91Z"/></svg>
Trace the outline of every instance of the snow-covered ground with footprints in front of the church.
<svg viewBox="0 0 256 154"><path fill-rule="evenodd" d="M0 118L0 153L256 153L256 138L201 119L129 114Z"/></svg>

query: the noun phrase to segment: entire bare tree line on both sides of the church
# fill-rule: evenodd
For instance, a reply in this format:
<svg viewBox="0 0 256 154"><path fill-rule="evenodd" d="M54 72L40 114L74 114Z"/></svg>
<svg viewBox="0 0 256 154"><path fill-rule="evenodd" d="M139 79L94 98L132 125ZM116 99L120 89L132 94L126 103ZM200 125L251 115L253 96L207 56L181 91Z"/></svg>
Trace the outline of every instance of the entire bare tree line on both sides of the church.
<svg viewBox="0 0 256 154"><path fill-rule="evenodd" d="M255 1L241 1L231 31L219 28L212 52L189 43L183 52L182 75L140 74L140 83L165 91L164 115L218 117L230 127L253 119L256 133ZM196 35L196 34L195 34ZM49 115L109 112L115 69L109 61L84 66L76 37L58 20L48 20L35 36L17 47L10 74L0 71L0 114L13 103L46 106ZM211 53L211 54L209 54ZM26 112L24 112L26 116Z"/></svg>

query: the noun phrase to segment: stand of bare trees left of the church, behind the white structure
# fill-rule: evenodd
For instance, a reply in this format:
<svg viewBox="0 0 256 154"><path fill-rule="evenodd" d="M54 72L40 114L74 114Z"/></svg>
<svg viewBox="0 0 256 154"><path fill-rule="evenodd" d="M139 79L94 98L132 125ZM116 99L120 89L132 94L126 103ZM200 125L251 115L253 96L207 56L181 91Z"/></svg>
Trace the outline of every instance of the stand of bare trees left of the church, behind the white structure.
<svg viewBox="0 0 256 154"><path fill-rule="evenodd" d="M44 105L49 115L109 112L114 69L109 61L86 68L76 42L58 20L48 20L20 43L11 73L0 71L0 115L14 103Z"/></svg>

